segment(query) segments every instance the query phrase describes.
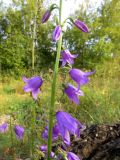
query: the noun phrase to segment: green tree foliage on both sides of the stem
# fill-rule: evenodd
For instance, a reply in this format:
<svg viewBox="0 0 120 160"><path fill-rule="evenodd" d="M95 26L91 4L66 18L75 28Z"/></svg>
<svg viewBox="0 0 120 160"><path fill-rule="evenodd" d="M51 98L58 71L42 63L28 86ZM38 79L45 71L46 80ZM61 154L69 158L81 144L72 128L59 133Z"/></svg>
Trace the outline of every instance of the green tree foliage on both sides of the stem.
<svg viewBox="0 0 120 160"><path fill-rule="evenodd" d="M13 1L4 12L0 7L0 63L2 73L15 75L31 70L32 45L35 44L36 71L53 67L55 45L50 41L53 24L41 25L44 13L43 1ZM79 32L76 27L67 28L64 43L73 53L79 54L76 66L92 69L94 65L119 54L119 0L105 0L96 11L88 5L82 6L72 17L84 21L90 29L89 34ZM37 8L37 9L35 9ZM36 35L33 29L36 17ZM48 29L49 28L49 29ZM48 38L46 38L48 35Z"/></svg>

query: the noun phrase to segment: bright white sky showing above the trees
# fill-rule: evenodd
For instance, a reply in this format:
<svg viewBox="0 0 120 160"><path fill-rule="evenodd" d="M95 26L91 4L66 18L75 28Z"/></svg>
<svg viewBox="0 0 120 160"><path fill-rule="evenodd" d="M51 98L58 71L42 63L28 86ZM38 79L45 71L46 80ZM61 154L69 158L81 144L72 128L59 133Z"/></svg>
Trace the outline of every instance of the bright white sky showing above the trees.
<svg viewBox="0 0 120 160"><path fill-rule="evenodd" d="M63 0L62 19L64 20L69 16L69 14L74 13L75 10L78 9L79 5L81 5L82 3L84 8L86 8L86 1L88 0ZM100 6L102 1L103 0L89 0L89 3L91 6L93 6L93 8L96 9L98 6ZM11 0L3 0L3 2L6 3L6 5L8 5L11 2ZM59 4L59 0L54 0L54 3Z"/></svg>

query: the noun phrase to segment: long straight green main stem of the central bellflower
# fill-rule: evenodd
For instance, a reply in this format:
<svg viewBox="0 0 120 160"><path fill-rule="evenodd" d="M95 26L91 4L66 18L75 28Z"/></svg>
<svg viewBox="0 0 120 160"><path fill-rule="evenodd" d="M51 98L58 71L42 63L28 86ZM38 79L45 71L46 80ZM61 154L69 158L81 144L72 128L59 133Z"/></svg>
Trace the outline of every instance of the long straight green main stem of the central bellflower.
<svg viewBox="0 0 120 160"><path fill-rule="evenodd" d="M61 25L61 11L62 11L62 0L60 0L60 8L59 8L59 25ZM58 75L61 45L62 45L62 34L58 41L57 56L56 56L52 90L51 90L51 105L49 109L49 131L48 131L48 158L47 158L48 160L51 159L50 153L52 148L52 128L53 128L53 120L54 120L53 118L54 118L54 108L55 108L55 93L56 93L56 82L57 82L57 75Z"/></svg>

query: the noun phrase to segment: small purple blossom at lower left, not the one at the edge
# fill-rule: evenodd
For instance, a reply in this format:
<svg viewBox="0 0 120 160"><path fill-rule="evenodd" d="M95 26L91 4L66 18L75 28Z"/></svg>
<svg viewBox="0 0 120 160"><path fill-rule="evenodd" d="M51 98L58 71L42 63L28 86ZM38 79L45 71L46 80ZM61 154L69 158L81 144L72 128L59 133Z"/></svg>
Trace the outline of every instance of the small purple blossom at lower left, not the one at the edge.
<svg viewBox="0 0 120 160"><path fill-rule="evenodd" d="M15 125L14 131L15 131L17 139L22 140L24 136L24 128L19 125Z"/></svg>

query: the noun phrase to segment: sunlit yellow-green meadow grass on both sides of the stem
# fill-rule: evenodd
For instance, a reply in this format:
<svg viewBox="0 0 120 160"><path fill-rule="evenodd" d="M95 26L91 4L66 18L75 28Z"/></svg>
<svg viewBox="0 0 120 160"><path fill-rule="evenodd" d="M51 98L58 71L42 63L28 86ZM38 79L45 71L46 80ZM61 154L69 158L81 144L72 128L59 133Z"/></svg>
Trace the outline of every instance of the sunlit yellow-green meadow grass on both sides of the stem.
<svg viewBox="0 0 120 160"><path fill-rule="evenodd" d="M62 93L62 83L64 81L71 82L76 85L69 76L65 77L62 74L58 77L58 90L56 94L56 111L64 110L69 112L81 123L85 125L90 124L113 124L119 123L120 117L120 58L111 59L96 67L96 74L90 77L90 83L81 87L85 96L80 97L80 105L76 106L69 101L66 95ZM50 106L51 95L51 74L43 75L44 84L42 86L42 94L39 94L39 106L32 100L30 94L23 92L24 83L19 79L7 78L4 83L0 84L0 123L5 119L6 115L11 115L14 124L18 123L26 128L26 136L24 145L14 143L14 148L17 148L16 153L24 157L29 155L29 129L31 129L32 109L35 108L38 118L45 118L37 122L36 132L37 135L35 144L39 145L41 141L41 132L46 125L45 120L48 118L48 107ZM10 134L0 135L0 155L11 148ZM30 136L30 135L29 135ZM13 134L15 140L15 134ZM11 151L9 151L11 152ZM8 157L10 159L10 154ZM36 151L37 152L37 151ZM19 153L19 154L18 154ZM22 155L25 153L25 155ZM40 153L41 154L41 153ZM0 157L1 158L1 157ZM13 159L13 158L11 158Z"/></svg>

